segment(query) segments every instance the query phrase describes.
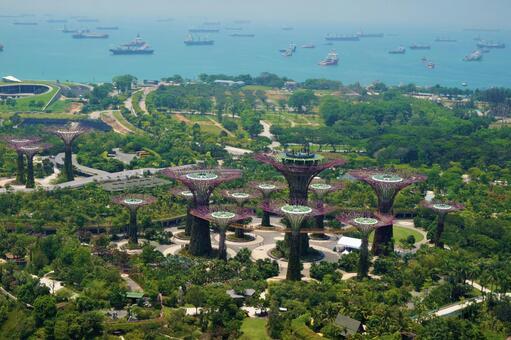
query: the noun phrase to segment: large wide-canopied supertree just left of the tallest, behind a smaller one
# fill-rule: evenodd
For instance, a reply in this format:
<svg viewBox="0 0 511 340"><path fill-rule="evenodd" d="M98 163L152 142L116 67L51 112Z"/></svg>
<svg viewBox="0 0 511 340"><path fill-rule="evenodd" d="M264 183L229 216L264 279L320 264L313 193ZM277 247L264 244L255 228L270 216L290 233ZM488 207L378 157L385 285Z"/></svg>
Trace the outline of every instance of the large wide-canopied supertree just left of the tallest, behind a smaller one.
<svg viewBox="0 0 511 340"><path fill-rule="evenodd" d="M193 208L209 206L209 198L216 187L241 177L240 170L222 168L174 167L161 171L161 174L181 182L192 192ZM194 216L189 250L195 256L207 255L211 252L209 221Z"/></svg>

